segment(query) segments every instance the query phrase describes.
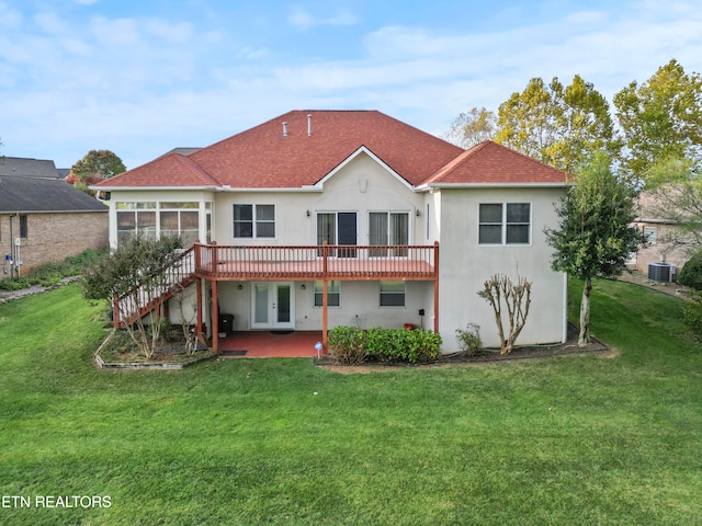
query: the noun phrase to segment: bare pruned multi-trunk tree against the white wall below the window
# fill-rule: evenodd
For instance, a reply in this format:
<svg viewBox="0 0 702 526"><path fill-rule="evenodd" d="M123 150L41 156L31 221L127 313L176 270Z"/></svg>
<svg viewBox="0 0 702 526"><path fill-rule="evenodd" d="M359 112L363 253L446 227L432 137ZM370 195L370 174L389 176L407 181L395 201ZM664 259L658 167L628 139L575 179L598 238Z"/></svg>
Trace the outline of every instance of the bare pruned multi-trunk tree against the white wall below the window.
<svg viewBox="0 0 702 526"><path fill-rule="evenodd" d="M531 282L523 277L518 277L517 283L499 274L495 274L484 284L478 296L485 299L492 307L497 332L500 336L500 354L511 354L519 334L526 323L529 306L531 305ZM509 333L505 338L505 325L502 322L502 302L507 308L507 321L509 322Z"/></svg>

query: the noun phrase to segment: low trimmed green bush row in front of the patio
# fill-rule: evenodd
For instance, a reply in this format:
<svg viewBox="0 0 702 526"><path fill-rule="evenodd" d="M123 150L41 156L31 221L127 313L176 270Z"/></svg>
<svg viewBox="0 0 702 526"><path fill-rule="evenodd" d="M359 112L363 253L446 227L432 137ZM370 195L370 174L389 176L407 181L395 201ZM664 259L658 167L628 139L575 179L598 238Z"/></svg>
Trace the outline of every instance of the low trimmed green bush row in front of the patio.
<svg viewBox="0 0 702 526"><path fill-rule="evenodd" d="M433 362L440 350L441 334L420 329L376 327L364 331L340 325L329 331L329 356L336 364L354 365L364 361Z"/></svg>

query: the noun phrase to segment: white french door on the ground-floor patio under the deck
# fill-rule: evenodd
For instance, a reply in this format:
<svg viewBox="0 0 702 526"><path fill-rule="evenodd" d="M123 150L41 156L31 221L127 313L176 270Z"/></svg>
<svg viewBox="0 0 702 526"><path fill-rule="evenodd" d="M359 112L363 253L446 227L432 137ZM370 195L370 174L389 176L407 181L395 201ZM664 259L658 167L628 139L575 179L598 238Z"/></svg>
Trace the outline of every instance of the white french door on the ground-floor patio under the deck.
<svg viewBox="0 0 702 526"><path fill-rule="evenodd" d="M295 329L292 282L251 284L251 329Z"/></svg>

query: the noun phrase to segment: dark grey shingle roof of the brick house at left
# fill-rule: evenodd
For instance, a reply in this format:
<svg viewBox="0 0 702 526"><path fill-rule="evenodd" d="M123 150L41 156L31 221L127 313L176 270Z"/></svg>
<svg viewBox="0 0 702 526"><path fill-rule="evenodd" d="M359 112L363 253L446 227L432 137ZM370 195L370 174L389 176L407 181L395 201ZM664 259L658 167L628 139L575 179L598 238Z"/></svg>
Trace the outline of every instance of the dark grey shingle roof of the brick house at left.
<svg viewBox="0 0 702 526"><path fill-rule="evenodd" d="M107 211L107 207L58 179L54 161L0 158L0 214L38 211Z"/></svg>

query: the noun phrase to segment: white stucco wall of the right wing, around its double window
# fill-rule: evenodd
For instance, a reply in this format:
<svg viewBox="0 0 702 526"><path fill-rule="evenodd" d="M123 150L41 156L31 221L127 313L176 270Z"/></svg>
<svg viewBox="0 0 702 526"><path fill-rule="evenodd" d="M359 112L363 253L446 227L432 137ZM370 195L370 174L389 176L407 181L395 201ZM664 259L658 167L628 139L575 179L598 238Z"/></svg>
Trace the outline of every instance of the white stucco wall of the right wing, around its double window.
<svg viewBox="0 0 702 526"><path fill-rule="evenodd" d="M564 277L551 270L552 248L544 227L557 226L554 204L559 188L446 190L441 196L440 332L444 352L457 350L455 330L474 322L487 346L498 346L497 325L490 305L478 297L494 274L518 275L532 282L532 304L518 344L554 343L563 340ZM480 203L530 203L531 242L524 245L478 243ZM507 322L507 320L505 320ZM453 347L453 348L452 348Z"/></svg>

